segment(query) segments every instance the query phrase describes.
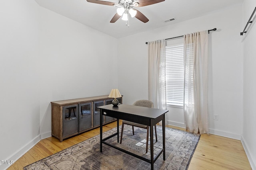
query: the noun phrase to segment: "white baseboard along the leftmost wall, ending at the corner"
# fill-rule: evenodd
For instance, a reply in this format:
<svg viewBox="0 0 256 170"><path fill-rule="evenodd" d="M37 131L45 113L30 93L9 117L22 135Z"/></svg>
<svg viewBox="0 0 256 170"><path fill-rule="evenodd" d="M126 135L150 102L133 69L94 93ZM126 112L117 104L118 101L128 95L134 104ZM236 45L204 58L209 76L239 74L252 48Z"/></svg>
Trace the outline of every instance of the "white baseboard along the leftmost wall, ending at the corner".
<svg viewBox="0 0 256 170"><path fill-rule="evenodd" d="M21 156L23 156L28 150L30 150L32 147L34 147L39 141L41 140L40 135L36 136L34 139L32 139L30 142L28 142L24 147L22 147L20 150L12 154L12 156L6 158L5 160L12 160L13 162L16 162ZM12 164L0 164L0 169L6 170L9 168Z"/></svg>

